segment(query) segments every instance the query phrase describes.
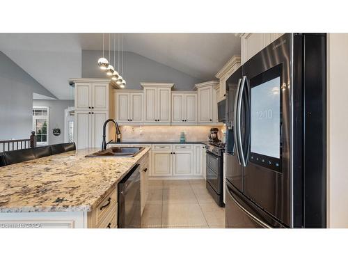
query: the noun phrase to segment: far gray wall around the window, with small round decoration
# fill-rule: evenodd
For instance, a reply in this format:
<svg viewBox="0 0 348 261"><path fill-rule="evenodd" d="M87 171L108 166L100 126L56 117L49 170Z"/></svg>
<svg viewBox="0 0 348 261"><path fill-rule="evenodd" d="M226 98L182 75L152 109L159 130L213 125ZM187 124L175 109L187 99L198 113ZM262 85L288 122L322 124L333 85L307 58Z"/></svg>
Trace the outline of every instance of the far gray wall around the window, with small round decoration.
<svg viewBox="0 0 348 261"><path fill-rule="evenodd" d="M33 100L33 106L49 107L49 145L64 142L64 110L74 106L73 100ZM54 136L52 130L61 129L61 135Z"/></svg>

